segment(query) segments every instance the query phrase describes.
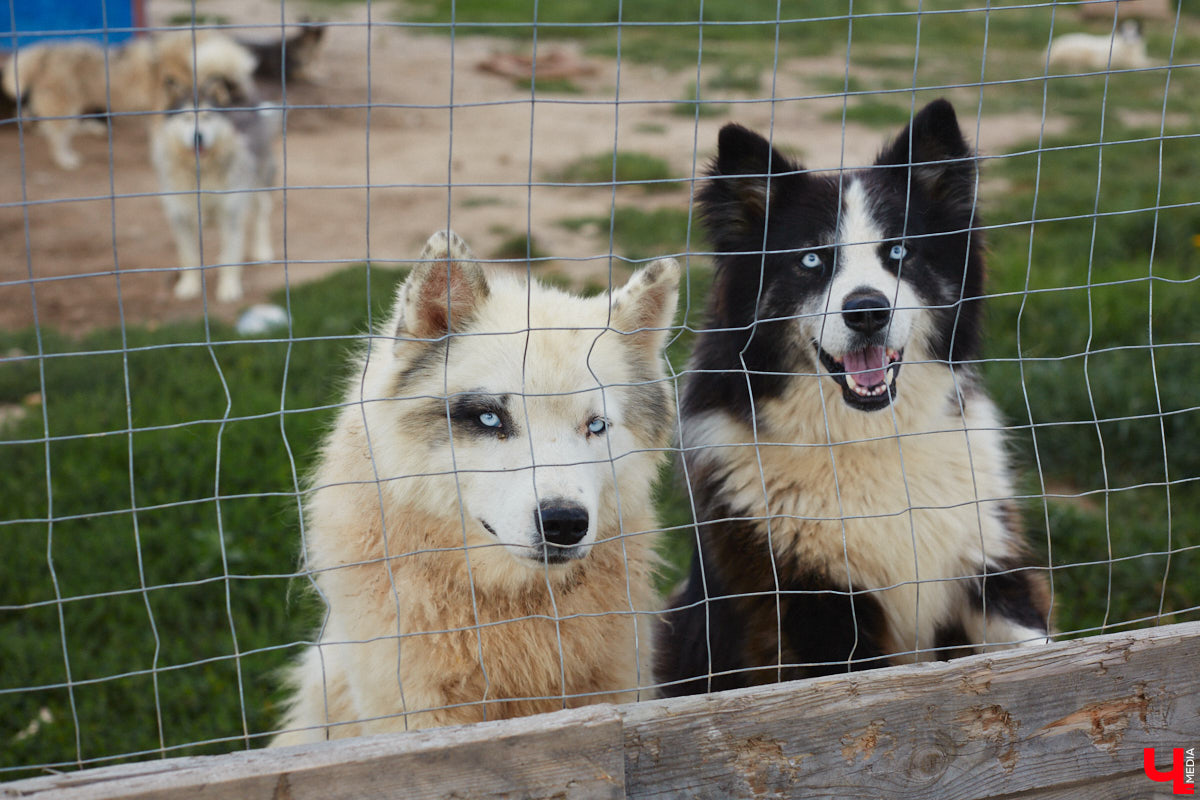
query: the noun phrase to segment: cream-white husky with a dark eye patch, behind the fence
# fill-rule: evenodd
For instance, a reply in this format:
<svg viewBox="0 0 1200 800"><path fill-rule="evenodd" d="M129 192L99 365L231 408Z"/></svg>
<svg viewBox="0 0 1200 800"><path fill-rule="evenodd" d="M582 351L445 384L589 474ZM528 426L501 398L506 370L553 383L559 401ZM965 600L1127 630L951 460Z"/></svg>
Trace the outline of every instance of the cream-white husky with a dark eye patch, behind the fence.
<svg viewBox="0 0 1200 800"><path fill-rule="evenodd" d="M434 234L352 374L305 509L328 603L276 745L636 699L673 427L655 261L578 297Z"/></svg>

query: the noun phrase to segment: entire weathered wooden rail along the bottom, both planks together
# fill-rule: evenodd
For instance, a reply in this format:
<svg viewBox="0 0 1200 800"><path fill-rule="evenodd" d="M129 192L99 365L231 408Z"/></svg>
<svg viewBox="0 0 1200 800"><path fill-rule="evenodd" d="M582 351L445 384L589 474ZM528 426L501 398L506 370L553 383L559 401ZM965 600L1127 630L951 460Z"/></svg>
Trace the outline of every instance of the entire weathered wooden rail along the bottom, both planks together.
<svg viewBox="0 0 1200 800"><path fill-rule="evenodd" d="M0 784L35 800L1159 800L1200 622L934 664Z"/></svg>

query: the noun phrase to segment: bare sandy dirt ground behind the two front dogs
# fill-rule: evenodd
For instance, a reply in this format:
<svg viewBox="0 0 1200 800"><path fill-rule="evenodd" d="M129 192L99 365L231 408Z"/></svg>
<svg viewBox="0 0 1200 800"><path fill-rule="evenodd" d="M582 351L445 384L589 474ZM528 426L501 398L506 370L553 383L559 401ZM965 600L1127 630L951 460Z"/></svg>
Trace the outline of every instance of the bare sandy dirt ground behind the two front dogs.
<svg viewBox="0 0 1200 800"><path fill-rule="evenodd" d="M151 0L150 22L187 12L185 0ZM288 13L304 13L289 2ZM211 0L203 11L235 23L278 23L277 0ZM673 114L695 85L695 70L580 55L570 43L544 43L542 53L586 58L592 74L574 79L580 94L539 90L479 68L508 41L419 35L388 24L384 4L318 6L331 18L317 59L319 79L288 85L287 133L280 144L281 188L275 204L277 263L245 271L238 307L178 301L170 293L175 251L155 197L149 158L152 116L114 120L109 137L77 137L85 158L76 172L50 162L44 140L28 124L0 125L0 326L36 321L82 333L96 326L196 318L230 319L284 285L310 281L362 260L404 261L431 231L448 224L480 254L514 234L532 231L557 269L577 283L608 272L608 239L557 224L611 211L608 187L542 186L556 170L598 154L641 151L666 158L672 173L702 170L730 119L796 145L811 167L862 164L881 144L877 131L824 121L840 98L805 82L841 74L840 58L793 59L781 65L776 101L730 94L728 115ZM252 31L266 36L263 30ZM247 34L248 35L248 34ZM619 67L619 68L618 68ZM769 82L764 82L769 86ZM274 90L274 91L272 91ZM269 100L280 86L265 88ZM968 131L973 119L964 119ZM998 152L1034 137L1037 114L988 118L980 149ZM623 194L622 203L686 207L688 192ZM695 242L694 248L702 245ZM205 257L216 242L205 240ZM206 308L206 312L205 312Z"/></svg>

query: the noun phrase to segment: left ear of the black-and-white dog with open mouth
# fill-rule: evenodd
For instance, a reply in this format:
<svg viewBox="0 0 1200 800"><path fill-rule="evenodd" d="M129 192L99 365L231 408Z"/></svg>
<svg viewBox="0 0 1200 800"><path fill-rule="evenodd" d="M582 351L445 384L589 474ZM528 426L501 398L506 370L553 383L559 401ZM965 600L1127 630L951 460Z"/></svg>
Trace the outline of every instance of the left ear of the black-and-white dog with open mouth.
<svg viewBox="0 0 1200 800"><path fill-rule="evenodd" d="M736 124L722 127L709 180L697 197L716 248L743 249L743 236L761 233L780 184L794 180L800 169L754 131Z"/></svg>

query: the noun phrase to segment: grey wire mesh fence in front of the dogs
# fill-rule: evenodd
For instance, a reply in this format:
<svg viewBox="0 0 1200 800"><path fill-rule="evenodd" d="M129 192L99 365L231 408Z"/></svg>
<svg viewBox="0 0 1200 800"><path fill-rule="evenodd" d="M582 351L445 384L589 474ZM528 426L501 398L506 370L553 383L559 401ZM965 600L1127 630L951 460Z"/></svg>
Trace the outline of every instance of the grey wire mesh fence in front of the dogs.
<svg viewBox="0 0 1200 800"><path fill-rule="evenodd" d="M0 780L1198 618L1183 4L80 7L0 42Z"/></svg>

